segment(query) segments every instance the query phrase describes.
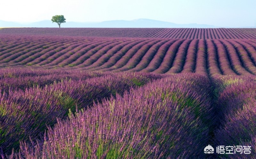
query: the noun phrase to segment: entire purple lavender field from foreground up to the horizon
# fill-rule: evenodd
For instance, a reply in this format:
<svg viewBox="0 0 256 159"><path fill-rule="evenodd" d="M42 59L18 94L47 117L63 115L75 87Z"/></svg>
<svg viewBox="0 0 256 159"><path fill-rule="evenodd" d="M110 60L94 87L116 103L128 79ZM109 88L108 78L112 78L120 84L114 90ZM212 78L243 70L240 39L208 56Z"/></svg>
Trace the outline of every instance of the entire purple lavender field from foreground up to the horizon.
<svg viewBox="0 0 256 159"><path fill-rule="evenodd" d="M256 29L2 28L0 81L2 158L256 158Z"/></svg>

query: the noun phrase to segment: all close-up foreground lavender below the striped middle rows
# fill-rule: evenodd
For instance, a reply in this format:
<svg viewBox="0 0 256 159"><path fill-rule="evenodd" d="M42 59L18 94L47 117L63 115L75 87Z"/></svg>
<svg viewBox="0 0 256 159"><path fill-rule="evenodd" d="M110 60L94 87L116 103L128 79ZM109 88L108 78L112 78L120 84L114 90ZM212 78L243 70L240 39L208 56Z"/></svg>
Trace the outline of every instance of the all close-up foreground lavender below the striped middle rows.
<svg viewBox="0 0 256 159"><path fill-rule="evenodd" d="M194 73L29 69L1 75L0 154L10 158L204 158L208 144L252 146L251 155L234 158L256 153L252 75L210 80ZM10 156L12 148L20 151Z"/></svg>

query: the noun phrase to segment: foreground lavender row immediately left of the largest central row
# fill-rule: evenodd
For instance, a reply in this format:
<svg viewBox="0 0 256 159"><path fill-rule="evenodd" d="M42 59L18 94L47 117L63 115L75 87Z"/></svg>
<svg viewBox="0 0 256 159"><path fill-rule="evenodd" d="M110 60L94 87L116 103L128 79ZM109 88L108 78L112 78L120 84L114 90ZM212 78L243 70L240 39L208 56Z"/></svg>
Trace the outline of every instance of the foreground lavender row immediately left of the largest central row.
<svg viewBox="0 0 256 159"><path fill-rule="evenodd" d="M43 88L34 86L25 90L9 89L8 94L2 91L0 147L4 152L10 153L12 148L18 148L19 140L28 140L29 137L34 140L44 132L46 125L52 126L56 123L56 117L65 118L68 110L86 110L93 102L97 103L117 93L123 94L132 87L141 86L160 77L145 74L106 74L87 77L85 80L67 79L59 83L53 82Z"/></svg>

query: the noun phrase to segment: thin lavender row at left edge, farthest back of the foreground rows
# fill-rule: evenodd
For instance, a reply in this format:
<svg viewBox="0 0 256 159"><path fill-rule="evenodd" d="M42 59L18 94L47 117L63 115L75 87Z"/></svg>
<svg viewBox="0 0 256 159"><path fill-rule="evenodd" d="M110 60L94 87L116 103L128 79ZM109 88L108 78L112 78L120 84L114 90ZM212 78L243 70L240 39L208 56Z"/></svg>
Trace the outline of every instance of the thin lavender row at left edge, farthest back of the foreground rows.
<svg viewBox="0 0 256 159"><path fill-rule="evenodd" d="M28 88L50 85L63 80L86 80L102 76L102 73L81 71L60 71L42 69L0 69L0 89L9 94L10 90L26 90Z"/></svg>

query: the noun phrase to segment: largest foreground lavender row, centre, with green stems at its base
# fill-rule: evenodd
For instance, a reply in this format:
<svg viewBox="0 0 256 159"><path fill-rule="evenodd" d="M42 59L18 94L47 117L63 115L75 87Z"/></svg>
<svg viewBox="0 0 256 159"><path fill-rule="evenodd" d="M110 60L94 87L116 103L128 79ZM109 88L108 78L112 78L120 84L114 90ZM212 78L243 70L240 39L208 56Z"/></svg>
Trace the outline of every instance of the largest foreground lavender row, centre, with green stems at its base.
<svg viewBox="0 0 256 159"><path fill-rule="evenodd" d="M86 111L70 112L69 119L48 128L43 140L22 141L20 152L9 157L205 157L208 121L214 119L209 84L195 74L156 80Z"/></svg>

